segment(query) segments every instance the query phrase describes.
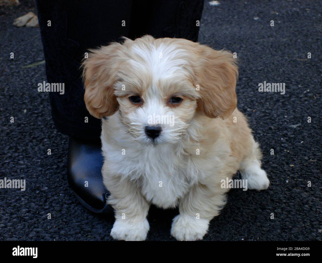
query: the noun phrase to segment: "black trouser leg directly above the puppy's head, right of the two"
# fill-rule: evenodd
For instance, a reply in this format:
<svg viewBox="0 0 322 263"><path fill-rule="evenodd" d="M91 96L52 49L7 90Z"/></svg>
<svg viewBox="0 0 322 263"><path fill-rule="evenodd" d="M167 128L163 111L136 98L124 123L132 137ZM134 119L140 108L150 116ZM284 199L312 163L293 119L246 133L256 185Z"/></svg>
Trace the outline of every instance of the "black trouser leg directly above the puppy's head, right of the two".
<svg viewBox="0 0 322 263"><path fill-rule="evenodd" d="M204 0L141 0L134 1L130 38L143 35L155 38L185 38L198 41Z"/></svg>

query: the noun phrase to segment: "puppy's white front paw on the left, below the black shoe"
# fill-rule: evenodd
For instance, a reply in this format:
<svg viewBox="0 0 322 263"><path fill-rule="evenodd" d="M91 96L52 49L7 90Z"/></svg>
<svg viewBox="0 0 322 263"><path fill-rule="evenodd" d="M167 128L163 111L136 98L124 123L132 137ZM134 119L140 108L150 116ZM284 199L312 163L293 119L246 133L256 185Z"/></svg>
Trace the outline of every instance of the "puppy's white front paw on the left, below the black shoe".
<svg viewBox="0 0 322 263"><path fill-rule="evenodd" d="M143 241L149 231L147 219L140 222L127 222L126 219L117 219L111 230L111 237L116 240Z"/></svg>

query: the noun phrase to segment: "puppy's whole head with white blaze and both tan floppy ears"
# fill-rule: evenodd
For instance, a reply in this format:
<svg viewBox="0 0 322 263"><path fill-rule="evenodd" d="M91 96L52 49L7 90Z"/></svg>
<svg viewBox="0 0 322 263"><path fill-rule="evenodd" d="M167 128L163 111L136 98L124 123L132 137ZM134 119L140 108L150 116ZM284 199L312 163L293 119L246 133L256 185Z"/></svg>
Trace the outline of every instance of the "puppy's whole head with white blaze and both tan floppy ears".
<svg viewBox="0 0 322 263"><path fill-rule="evenodd" d="M176 143L197 111L224 119L236 107L238 71L227 51L151 36L91 51L83 62L86 107L97 118L118 110L133 140Z"/></svg>

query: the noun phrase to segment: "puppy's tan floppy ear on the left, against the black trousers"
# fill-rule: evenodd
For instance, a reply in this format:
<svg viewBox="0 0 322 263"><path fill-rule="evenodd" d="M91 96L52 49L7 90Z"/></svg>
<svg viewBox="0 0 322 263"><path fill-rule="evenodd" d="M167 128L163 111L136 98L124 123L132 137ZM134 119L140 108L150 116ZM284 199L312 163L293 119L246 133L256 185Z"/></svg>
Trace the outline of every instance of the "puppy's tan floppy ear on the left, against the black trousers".
<svg viewBox="0 0 322 263"><path fill-rule="evenodd" d="M119 43L90 50L88 59L84 59L83 80L85 87L84 101L91 115L100 119L110 116L118 109L113 85L117 81L117 51L122 47Z"/></svg>

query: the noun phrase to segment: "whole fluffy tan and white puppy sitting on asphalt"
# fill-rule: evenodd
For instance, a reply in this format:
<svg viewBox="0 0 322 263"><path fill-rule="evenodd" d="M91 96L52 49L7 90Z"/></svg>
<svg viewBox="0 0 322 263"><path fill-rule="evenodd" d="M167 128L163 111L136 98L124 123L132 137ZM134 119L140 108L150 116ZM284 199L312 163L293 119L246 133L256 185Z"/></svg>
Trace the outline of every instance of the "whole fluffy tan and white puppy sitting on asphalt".
<svg viewBox="0 0 322 263"><path fill-rule="evenodd" d="M147 35L91 50L83 67L86 107L104 117L114 239L145 240L155 204L179 206L173 237L200 240L226 202L222 180L240 170L249 189L268 188L258 143L236 108L230 52Z"/></svg>

